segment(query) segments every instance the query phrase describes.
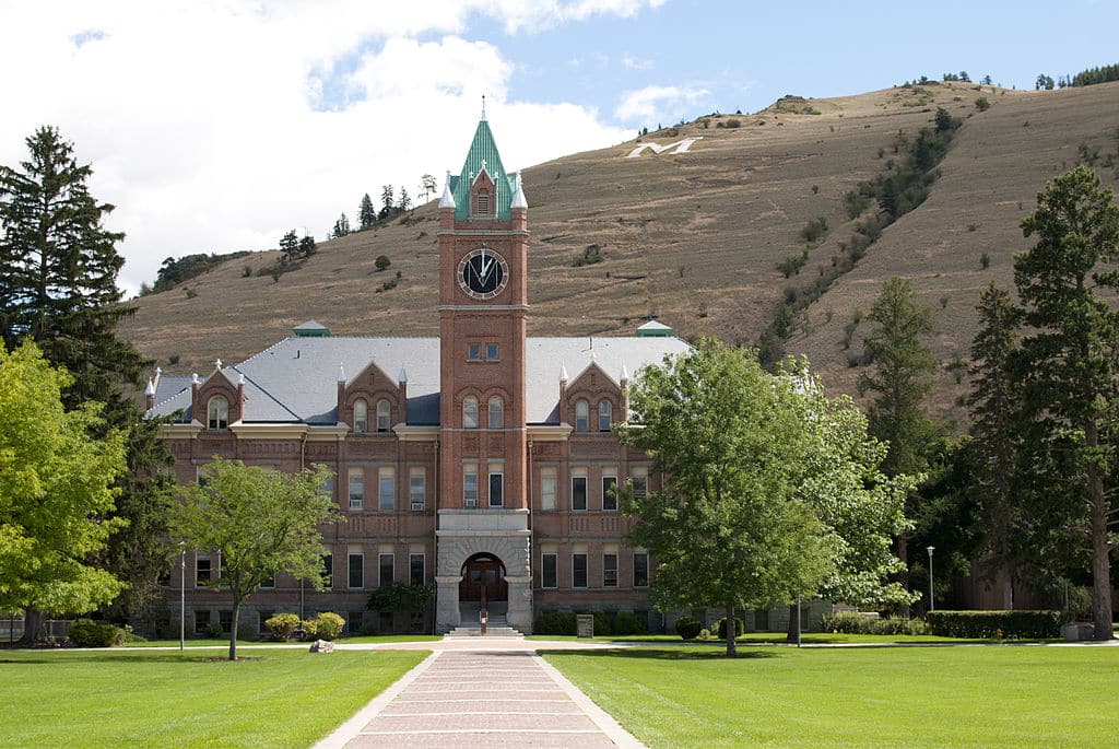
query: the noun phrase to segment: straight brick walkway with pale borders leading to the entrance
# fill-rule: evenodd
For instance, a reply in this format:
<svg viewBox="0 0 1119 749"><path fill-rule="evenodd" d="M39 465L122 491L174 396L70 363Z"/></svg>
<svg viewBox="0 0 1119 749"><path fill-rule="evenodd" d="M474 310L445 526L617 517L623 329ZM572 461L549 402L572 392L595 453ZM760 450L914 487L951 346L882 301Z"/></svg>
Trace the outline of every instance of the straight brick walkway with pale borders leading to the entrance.
<svg viewBox="0 0 1119 749"><path fill-rule="evenodd" d="M548 644L501 639L424 643L435 652L318 748L642 747L536 655Z"/></svg>

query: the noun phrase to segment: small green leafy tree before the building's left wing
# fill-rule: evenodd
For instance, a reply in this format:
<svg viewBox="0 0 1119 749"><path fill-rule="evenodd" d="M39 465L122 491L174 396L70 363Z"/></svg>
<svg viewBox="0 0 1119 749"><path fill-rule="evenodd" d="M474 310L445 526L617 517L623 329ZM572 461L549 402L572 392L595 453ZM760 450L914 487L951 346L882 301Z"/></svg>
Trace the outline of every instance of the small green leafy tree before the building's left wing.
<svg viewBox="0 0 1119 749"><path fill-rule="evenodd" d="M322 588L321 525L337 513L322 485L322 466L299 474L267 474L239 460L217 458L206 467L206 485L182 488L171 512L170 535L191 549L220 554L219 577L233 609L229 659L237 658L241 605L280 572Z"/></svg>

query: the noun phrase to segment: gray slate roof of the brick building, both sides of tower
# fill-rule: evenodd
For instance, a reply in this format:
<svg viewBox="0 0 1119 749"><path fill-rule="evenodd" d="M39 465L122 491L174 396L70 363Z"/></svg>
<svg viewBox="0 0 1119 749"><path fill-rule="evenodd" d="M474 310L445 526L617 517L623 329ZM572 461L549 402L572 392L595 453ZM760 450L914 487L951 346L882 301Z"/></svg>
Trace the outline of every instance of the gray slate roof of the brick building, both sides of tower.
<svg viewBox="0 0 1119 749"><path fill-rule="evenodd" d="M648 364L660 364L666 355L681 354L688 345L679 338L528 338L526 372L528 422L558 423L560 373L566 369L574 383L591 365L598 365L615 382L622 367L636 376ZM246 423L338 423L338 366L347 380L375 363L394 381L401 369L408 377L408 423L439 423L439 338L284 338L242 362L224 366L223 374L236 384L245 376ZM201 376L206 380L211 373ZM176 411L190 414L190 377L164 376L156 391L156 405L148 416Z"/></svg>

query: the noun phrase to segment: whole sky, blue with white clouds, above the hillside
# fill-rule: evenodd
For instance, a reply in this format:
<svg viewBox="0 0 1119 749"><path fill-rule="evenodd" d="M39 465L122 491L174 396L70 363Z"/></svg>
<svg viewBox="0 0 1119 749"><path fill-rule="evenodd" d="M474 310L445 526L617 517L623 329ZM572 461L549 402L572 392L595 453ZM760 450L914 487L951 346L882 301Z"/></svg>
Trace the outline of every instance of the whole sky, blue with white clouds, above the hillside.
<svg viewBox="0 0 1119 749"><path fill-rule="evenodd" d="M366 191L415 196L461 165L483 94L518 169L783 94L1032 88L1119 62L1116 28L1111 0L10 0L0 163L59 127L117 206L134 291L167 256L322 240Z"/></svg>

